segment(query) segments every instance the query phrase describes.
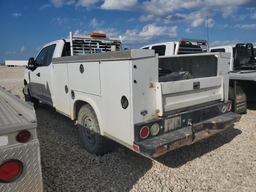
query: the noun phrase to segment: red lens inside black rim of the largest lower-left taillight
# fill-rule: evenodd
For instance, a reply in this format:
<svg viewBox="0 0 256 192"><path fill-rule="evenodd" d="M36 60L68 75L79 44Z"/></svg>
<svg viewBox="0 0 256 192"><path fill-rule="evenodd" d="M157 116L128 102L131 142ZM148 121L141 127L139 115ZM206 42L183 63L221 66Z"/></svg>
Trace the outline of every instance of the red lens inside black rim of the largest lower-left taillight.
<svg viewBox="0 0 256 192"><path fill-rule="evenodd" d="M14 179L20 172L20 164L16 161L5 162L0 166L0 182Z"/></svg>

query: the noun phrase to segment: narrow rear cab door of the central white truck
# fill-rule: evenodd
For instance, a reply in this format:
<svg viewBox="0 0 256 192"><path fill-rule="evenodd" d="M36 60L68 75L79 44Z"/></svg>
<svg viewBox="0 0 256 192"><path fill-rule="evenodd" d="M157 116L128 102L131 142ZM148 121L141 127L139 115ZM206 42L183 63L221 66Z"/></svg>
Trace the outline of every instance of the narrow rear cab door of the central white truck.
<svg viewBox="0 0 256 192"><path fill-rule="evenodd" d="M49 47L48 54L46 55L45 63L41 67L40 76L42 84L42 101L53 106L54 100L54 82L52 79L53 66L52 66L52 57L54 55L54 50L56 44L52 44Z"/></svg>

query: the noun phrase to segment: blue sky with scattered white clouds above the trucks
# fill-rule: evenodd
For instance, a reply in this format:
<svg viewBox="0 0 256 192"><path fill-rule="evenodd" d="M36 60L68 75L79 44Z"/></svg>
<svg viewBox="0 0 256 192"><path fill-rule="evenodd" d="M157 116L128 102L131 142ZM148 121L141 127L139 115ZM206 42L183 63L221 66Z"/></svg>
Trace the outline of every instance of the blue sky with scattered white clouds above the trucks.
<svg viewBox="0 0 256 192"><path fill-rule="evenodd" d="M123 47L179 38L256 44L256 0L0 0L0 62L27 60L70 31L122 36Z"/></svg>

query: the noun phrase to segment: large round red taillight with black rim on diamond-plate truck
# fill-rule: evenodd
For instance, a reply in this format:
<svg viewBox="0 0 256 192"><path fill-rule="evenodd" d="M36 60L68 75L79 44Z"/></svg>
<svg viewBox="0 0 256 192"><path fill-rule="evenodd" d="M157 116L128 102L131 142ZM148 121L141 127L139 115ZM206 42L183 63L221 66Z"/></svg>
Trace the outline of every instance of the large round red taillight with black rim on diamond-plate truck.
<svg viewBox="0 0 256 192"><path fill-rule="evenodd" d="M9 183L16 180L22 173L22 162L9 159L0 164L0 182Z"/></svg>

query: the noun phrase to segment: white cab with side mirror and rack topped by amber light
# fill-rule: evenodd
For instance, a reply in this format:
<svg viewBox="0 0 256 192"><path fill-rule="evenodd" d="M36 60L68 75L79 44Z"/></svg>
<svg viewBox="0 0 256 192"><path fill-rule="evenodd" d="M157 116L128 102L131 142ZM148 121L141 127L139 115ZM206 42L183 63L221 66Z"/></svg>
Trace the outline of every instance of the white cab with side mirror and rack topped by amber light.
<svg viewBox="0 0 256 192"><path fill-rule="evenodd" d="M121 37L108 38L105 34L90 33L90 36L72 35L44 45L36 58L30 58L24 71L25 100L32 100L37 108L39 100L55 107L55 88L52 58L79 54L121 50Z"/></svg>

